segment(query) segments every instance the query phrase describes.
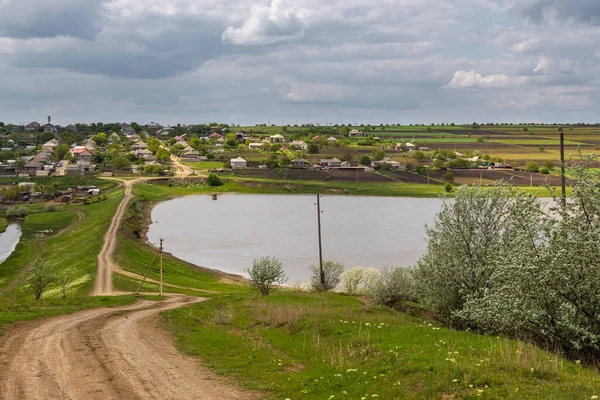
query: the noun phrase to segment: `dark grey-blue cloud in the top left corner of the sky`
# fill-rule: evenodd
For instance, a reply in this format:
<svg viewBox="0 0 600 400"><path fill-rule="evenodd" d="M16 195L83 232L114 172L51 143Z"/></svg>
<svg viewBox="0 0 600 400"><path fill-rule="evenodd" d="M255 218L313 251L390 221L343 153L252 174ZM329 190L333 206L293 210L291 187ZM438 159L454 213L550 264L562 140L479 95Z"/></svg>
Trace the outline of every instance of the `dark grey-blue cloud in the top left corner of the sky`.
<svg viewBox="0 0 600 400"><path fill-rule="evenodd" d="M103 22L102 0L4 0L0 36L91 39Z"/></svg>

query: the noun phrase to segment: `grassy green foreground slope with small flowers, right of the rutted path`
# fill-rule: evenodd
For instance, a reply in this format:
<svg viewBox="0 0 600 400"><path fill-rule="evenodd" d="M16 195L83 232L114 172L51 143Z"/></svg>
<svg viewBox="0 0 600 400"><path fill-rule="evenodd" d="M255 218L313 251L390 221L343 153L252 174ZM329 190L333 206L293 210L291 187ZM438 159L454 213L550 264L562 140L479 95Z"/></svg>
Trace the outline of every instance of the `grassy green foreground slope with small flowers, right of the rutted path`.
<svg viewBox="0 0 600 400"><path fill-rule="evenodd" d="M274 399L589 399L597 371L342 295L222 296L164 314L179 348ZM455 397L451 397L455 396Z"/></svg>

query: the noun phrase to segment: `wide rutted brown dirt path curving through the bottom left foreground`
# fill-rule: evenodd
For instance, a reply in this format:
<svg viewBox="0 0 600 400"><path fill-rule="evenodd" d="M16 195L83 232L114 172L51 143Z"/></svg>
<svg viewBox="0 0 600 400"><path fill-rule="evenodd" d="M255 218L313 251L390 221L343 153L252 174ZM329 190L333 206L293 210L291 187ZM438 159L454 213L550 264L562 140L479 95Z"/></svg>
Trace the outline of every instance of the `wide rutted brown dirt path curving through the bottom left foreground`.
<svg viewBox="0 0 600 400"><path fill-rule="evenodd" d="M25 323L0 337L0 398L255 399L181 355L158 314L175 297Z"/></svg>

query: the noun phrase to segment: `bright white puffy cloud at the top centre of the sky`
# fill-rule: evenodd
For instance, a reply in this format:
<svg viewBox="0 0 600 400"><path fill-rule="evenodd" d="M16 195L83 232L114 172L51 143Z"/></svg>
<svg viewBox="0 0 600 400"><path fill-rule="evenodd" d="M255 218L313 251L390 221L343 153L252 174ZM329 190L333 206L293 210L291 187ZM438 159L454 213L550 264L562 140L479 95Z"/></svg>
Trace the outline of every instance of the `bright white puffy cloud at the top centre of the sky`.
<svg viewBox="0 0 600 400"><path fill-rule="evenodd" d="M235 45L266 45L302 39L307 28L305 10L294 8L286 0L273 0L270 6L254 4L242 26L229 26L221 38Z"/></svg>

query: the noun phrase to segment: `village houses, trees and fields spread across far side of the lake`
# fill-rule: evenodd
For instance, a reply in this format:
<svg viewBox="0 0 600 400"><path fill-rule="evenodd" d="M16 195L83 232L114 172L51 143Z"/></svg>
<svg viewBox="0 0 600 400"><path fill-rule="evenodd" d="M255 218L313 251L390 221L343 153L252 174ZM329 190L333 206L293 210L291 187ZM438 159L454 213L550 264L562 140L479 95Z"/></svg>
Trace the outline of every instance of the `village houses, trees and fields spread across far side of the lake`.
<svg viewBox="0 0 600 400"><path fill-rule="evenodd" d="M525 165L514 158L511 161L510 153L509 161L506 154L490 155L493 145L498 144L496 137L506 137L506 128L450 128L236 127L217 123L98 123L63 127L53 125L48 117L44 125L0 125L0 177L5 182L17 178L25 183L48 177L175 177L179 176L178 166L183 165L191 171L186 175L217 173L250 180L435 185L506 179L516 185L558 183L547 151L539 156L532 154ZM465 137L472 138L472 142L464 143ZM490 154L485 154L486 148ZM53 198L71 196L81 201L82 194L88 194L79 193L75 186L71 189L74 194L57 193ZM35 191L21 191L18 196L3 196L3 200L36 196L40 195Z"/></svg>

